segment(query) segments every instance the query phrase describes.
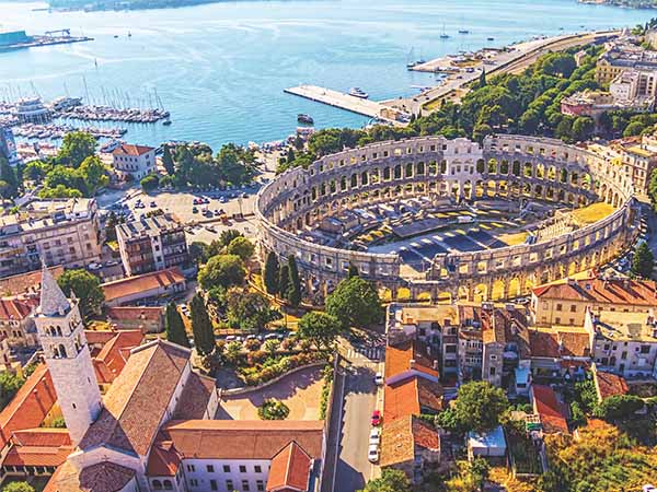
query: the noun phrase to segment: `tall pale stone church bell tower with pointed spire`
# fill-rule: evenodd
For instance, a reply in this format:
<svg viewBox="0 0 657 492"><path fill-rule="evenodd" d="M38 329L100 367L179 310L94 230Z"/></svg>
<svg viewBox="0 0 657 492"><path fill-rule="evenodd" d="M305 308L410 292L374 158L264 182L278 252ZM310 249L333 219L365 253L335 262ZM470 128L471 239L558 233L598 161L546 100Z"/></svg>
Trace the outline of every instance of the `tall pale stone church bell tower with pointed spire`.
<svg viewBox="0 0 657 492"><path fill-rule="evenodd" d="M78 445L101 411L101 391L78 301L68 300L46 266L34 317L64 420Z"/></svg>

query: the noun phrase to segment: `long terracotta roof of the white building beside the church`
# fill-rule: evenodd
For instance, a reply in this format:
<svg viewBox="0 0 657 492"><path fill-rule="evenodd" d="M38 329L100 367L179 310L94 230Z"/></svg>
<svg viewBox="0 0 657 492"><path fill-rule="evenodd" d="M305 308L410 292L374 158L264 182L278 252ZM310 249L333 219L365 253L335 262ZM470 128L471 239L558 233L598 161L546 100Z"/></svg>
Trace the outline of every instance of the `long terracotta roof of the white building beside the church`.
<svg viewBox="0 0 657 492"><path fill-rule="evenodd" d="M165 424L162 434L183 459L272 459L291 441L318 459L324 445L324 422L186 420Z"/></svg>

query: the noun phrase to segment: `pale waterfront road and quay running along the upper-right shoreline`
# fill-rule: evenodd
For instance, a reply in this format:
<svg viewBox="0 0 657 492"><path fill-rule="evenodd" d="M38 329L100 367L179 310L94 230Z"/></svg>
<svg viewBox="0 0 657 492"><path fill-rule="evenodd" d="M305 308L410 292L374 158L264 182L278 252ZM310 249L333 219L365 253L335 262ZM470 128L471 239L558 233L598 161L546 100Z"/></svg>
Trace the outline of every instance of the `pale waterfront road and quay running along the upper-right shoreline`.
<svg viewBox="0 0 657 492"><path fill-rule="evenodd" d="M479 62L473 66L474 71L468 73L465 71L459 71L458 73L449 75L445 81L428 91L424 91L414 97L400 97L397 99L391 99L383 102L383 104L391 107L413 113L427 115L431 110L423 108L423 105L436 99L445 97L451 97L459 92L466 91L466 85L477 80L485 67L486 73L518 73L533 63L540 56L550 51L560 51L574 46L588 45L597 38L618 34L619 32L602 32L602 33L586 33L580 35L565 35L556 36L545 39L534 39L526 43L521 43L512 46L511 51L500 52L496 58L494 65L484 65ZM431 68L431 63L437 61L429 61L424 63Z"/></svg>

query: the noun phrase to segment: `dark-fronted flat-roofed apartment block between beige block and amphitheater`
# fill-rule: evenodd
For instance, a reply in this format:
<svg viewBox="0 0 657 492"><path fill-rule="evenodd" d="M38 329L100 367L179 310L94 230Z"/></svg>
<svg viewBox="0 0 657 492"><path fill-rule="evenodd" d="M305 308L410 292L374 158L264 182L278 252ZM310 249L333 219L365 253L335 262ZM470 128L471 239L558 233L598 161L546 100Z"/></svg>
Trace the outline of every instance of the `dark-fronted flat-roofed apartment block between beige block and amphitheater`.
<svg viewBox="0 0 657 492"><path fill-rule="evenodd" d="M189 263L184 226L172 214L118 224L116 238L128 277Z"/></svg>

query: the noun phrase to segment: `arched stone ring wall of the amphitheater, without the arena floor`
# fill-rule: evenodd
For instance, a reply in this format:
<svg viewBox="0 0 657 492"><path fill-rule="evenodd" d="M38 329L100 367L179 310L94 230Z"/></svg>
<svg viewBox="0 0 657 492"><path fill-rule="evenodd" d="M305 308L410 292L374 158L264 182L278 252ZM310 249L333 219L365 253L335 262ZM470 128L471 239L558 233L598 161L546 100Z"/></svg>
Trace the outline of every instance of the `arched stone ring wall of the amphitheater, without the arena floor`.
<svg viewBox="0 0 657 492"><path fill-rule="evenodd" d="M574 208L604 201L616 210L543 242L437 255L428 271L411 276L402 274L397 255L321 246L295 233L342 210L419 196L546 200ZM280 258L295 255L309 297L330 292L349 265L389 289L393 300L402 288L411 300L474 300L477 293L487 298L494 286L502 298L515 297L533 285L604 265L637 234L633 184L620 166L558 140L521 136L492 136L481 145L424 137L326 155L265 186L255 213L262 259L268 251Z"/></svg>

